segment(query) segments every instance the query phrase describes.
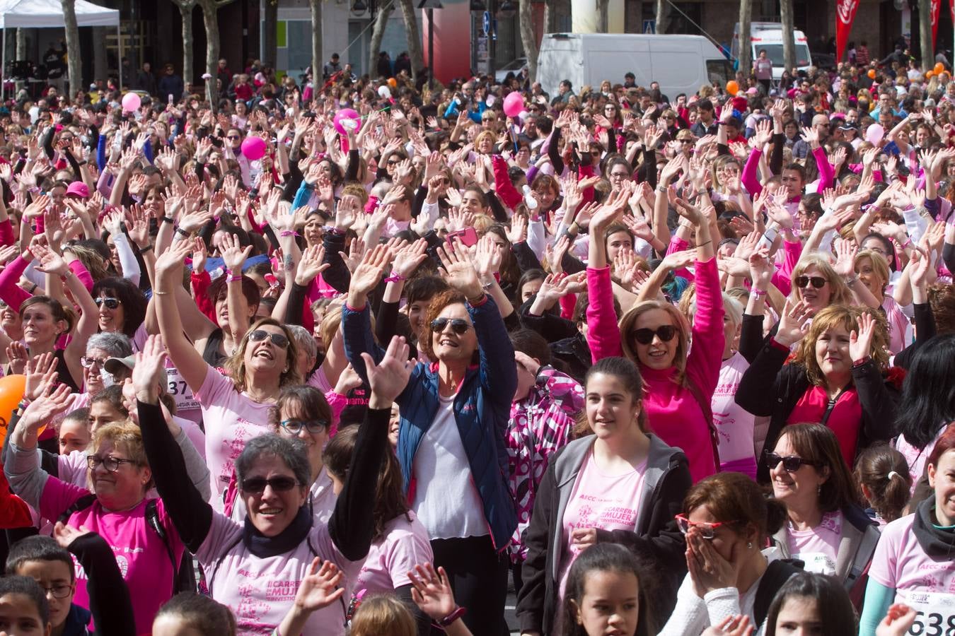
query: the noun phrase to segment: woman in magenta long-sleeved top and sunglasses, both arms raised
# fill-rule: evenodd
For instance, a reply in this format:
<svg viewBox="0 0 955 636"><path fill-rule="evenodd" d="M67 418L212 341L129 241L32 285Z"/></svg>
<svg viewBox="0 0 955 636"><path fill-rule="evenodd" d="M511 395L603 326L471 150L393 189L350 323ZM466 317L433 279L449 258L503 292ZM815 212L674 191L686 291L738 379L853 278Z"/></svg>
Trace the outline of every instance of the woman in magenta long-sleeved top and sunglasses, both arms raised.
<svg viewBox="0 0 955 636"><path fill-rule="evenodd" d="M662 196L662 195L660 195ZM723 296L713 257L708 214L679 201L677 210L696 226L696 314L690 321L671 303L655 298L669 269L685 258L671 254L654 271L641 300L617 323L607 265L604 232L623 210L626 193L610 200L590 220L587 262L587 342L596 362L624 356L637 362L647 382L648 427L668 445L682 448L690 460L693 482L716 472L715 440L711 437L710 397L723 361ZM693 346L690 351L690 338Z"/></svg>

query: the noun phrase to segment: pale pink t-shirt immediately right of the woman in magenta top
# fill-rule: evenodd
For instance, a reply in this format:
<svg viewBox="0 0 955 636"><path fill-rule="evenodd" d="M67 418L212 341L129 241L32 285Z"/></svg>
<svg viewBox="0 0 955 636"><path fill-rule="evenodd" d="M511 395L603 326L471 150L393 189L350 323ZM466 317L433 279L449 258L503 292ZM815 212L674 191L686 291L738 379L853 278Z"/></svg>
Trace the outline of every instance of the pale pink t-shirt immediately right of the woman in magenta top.
<svg viewBox="0 0 955 636"><path fill-rule="evenodd" d="M753 426L756 418L736 403L739 380L749 367L750 363L738 352L732 358L723 360L711 406L719 438L720 469L745 473L754 480L756 458L753 454Z"/></svg>

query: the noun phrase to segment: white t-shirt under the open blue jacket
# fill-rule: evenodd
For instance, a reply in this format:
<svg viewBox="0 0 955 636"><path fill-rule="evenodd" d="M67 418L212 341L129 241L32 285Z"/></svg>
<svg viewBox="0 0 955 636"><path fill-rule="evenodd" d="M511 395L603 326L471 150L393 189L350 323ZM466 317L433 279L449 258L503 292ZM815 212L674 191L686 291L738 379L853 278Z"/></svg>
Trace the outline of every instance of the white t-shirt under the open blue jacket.
<svg viewBox="0 0 955 636"><path fill-rule="evenodd" d="M435 421L414 454L412 509L432 539L490 534L455 421L455 399L439 398Z"/></svg>

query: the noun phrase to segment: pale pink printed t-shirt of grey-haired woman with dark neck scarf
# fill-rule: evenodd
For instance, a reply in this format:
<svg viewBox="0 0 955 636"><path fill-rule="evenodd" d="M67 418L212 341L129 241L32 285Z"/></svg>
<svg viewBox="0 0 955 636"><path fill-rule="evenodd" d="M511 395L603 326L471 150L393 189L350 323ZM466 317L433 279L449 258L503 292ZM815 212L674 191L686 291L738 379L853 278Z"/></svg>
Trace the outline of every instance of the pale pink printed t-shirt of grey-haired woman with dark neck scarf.
<svg viewBox="0 0 955 636"><path fill-rule="evenodd" d="M196 553L207 577L209 593L232 610L240 634L271 634L282 623L316 556L342 570L341 586L346 590L354 585L361 567L360 561L349 561L342 556L332 543L325 523L314 523L307 540L291 552L263 559L246 549L241 541L242 532L241 523L214 513L209 534ZM347 603L348 599L344 599L312 613L302 633L343 636Z"/></svg>

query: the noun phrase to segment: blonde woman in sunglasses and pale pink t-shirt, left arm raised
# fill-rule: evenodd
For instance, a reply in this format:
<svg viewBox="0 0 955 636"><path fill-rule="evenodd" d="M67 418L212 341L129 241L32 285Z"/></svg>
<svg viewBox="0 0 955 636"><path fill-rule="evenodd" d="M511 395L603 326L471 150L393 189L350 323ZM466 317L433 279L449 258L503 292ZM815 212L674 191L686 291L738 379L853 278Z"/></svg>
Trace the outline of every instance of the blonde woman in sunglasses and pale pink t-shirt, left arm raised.
<svg viewBox="0 0 955 636"><path fill-rule="evenodd" d="M245 442L272 432L269 410L283 386L298 384L301 379L295 367L295 342L288 330L271 318L256 321L239 340L235 354L225 361L228 376L202 359L182 331L174 297L191 250L192 243L182 240L159 256L153 295L169 358L202 406L212 503L222 511L234 503L238 483L234 462Z"/></svg>

